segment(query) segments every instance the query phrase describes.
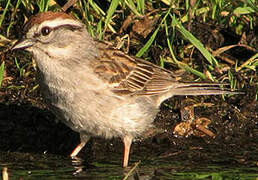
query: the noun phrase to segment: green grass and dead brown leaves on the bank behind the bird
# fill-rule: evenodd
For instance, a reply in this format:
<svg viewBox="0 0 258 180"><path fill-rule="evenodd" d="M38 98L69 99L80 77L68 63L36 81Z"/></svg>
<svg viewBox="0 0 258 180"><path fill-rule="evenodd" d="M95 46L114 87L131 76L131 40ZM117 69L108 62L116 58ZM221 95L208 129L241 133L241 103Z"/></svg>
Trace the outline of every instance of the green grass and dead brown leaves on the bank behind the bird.
<svg viewBox="0 0 258 180"><path fill-rule="evenodd" d="M1 92L30 96L37 90L37 84L28 87L34 64L19 56L11 55L11 59L6 53L10 54L13 40L21 37L22 26L31 15L60 11L65 3L0 1ZM257 86L258 10L254 0L80 0L67 12L82 20L93 37L112 41L131 55L173 71L190 72L196 80L227 82L233 89ZM9 59L16 67L11 73ZM252 96L257 100L257 90Z"/></svg>

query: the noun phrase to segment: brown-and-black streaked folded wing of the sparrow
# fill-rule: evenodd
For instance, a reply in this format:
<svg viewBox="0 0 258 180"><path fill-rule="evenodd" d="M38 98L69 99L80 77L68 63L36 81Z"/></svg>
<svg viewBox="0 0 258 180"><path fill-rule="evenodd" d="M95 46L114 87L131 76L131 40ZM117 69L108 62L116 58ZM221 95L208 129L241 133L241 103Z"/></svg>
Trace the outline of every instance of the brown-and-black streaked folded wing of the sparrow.
<svg viewBox="0 0 258 180"><path fill-rule="evenodd" d="M101 43L98 44L101 55L94 70L115 93L157 95L168 91L176 82L171 72Z"/></svg>

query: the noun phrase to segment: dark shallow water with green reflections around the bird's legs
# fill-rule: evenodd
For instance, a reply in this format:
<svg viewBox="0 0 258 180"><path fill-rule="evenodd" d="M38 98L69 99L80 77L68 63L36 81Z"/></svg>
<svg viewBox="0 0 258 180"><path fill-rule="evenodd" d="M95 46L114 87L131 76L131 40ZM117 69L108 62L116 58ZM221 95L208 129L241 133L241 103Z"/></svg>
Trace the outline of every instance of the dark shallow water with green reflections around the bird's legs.
<svg viewBox="0 0 258 180"><path fill-rule="evenodd" d="M121 168L120 154L110 154L104 162L85 164L81 159L51 154L2 152L0 167L13 179L123 179L141 156L132 155L130 167ZM258 179L257 153L252 161L240 163L221 157L212 162L148 157L132 170L128 179Z"/></svg>

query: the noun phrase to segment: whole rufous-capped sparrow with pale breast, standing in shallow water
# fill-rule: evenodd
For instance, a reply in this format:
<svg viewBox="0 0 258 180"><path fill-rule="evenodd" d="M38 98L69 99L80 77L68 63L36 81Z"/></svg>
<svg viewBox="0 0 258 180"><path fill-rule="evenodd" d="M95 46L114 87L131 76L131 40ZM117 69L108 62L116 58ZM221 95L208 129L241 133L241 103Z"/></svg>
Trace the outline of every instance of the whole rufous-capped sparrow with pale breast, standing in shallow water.
<svg viewBox="0 0 258 180"><path fill-rule="evenodd" d="M152 126L164 100L235 93L220 84L180 82L170 71L94 40L83 23L62 12L39 13L24 30L12 49L33 54L50 109L80 133L72 157L91 136L120 137L126 167L132 140Z"/></svg>

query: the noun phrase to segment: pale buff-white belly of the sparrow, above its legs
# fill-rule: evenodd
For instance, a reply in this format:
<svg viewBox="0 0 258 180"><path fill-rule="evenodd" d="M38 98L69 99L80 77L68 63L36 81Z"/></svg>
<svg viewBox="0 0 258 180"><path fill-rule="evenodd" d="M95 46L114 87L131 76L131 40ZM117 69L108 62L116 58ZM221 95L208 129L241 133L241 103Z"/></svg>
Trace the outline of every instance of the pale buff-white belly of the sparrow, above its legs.
<svg viewBox="0 0 258 180"><path fill-rule="evenodd" d="M53 112L66 125L74 131L91 136L139 136L151 127L158 112L158 108L149 99L117 98L109 92L102 93L105 95L96 91L85 93L87 95L59 89L55 91L54 97L48 99L53 106Z"/></svg>

